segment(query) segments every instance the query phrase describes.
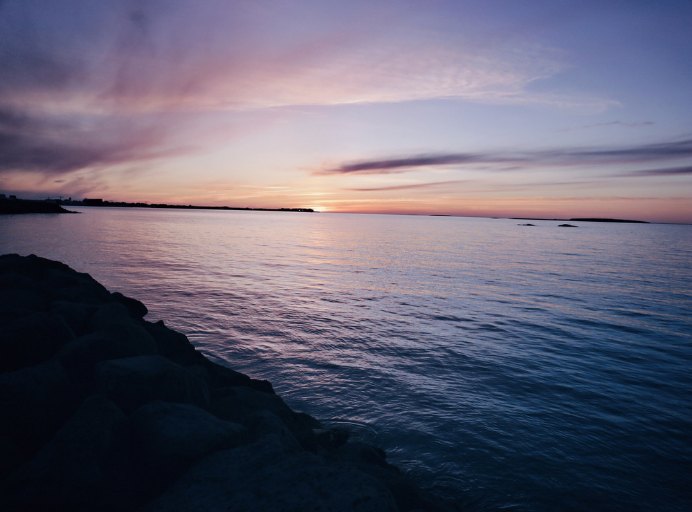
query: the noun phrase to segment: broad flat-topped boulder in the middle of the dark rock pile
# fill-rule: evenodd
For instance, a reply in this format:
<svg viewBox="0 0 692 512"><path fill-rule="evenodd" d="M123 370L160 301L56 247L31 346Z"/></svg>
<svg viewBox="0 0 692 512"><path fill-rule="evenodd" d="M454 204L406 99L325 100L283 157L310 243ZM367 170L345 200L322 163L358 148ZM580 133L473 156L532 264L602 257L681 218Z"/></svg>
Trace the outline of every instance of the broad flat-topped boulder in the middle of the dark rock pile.
<svg viewBox="0 0 692 512"><path fill-rule="evenodd" d="M152 400L204 407L209 401L207 383L162 356L139 356L103 361L96 365L96 390L113 400L125 413Z"/></svg>

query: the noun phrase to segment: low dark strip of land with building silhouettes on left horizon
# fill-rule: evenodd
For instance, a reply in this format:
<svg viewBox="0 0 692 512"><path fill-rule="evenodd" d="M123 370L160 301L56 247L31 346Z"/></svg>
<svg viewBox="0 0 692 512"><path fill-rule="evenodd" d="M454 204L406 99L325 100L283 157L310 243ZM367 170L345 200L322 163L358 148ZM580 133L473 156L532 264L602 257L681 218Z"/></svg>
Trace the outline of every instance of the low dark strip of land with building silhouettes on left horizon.
<svg viewBox="0 0 692 512"><path fill-rule="evenodd" d="M69 211L62 206L89 206L89 207L118 207L118 208L174 208L192 210L251 210L251 211L307 211L314 212L312 208L240 208L228 206L194 206L194 205L166 205L165 203L148 202L116 202L102 199L17 199L16 196L5 197L0 194L0 214L77 214L77 211Z"/></svg>

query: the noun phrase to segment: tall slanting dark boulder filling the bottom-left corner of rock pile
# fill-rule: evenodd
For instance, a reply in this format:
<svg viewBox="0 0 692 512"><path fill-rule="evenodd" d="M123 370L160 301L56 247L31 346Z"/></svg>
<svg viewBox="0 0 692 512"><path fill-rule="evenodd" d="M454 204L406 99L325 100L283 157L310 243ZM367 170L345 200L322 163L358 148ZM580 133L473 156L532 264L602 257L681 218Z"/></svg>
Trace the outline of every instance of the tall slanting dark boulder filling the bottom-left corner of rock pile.
<svg viewBox="0 0 692 512"><path fill-rule="evenodd" d="M113 402L89 397L36 457L6 480L6 510L98 509L107 501L103 468L122 415Z"/></svg>

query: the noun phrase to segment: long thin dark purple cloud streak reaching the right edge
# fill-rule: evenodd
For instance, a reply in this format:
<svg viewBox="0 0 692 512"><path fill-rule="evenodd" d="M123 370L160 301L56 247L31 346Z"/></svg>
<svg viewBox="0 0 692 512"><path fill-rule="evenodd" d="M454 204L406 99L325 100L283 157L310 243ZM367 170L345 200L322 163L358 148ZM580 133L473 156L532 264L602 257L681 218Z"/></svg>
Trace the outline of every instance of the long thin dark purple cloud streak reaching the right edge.
<svg viewBox="0 0 692 512"><path fill-rule="evenodd" d="M495 170L519 170L529 167L574 166L584 164L631 164L637 162L668 161L692 157L692 139L658 144L642 144L599 149L554 149L550 151L524 151L510 153L444 153L409 155L389 159L358 160L336 167L315 171L317 175L338 174L392 174L444 167L450 165L502 164Z"/></svg>

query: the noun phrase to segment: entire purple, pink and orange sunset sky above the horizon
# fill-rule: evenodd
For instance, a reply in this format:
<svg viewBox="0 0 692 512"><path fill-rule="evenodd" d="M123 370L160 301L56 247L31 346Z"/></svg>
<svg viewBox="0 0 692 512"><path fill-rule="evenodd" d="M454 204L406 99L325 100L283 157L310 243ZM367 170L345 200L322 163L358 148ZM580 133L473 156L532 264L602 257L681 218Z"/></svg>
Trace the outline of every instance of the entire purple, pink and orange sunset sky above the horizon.
<svg viewBox="0 0 692 512"><path fill-rule="evenodd" d="M689 0L0 0L0 192L692 222Z"/></svg>

